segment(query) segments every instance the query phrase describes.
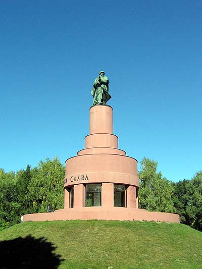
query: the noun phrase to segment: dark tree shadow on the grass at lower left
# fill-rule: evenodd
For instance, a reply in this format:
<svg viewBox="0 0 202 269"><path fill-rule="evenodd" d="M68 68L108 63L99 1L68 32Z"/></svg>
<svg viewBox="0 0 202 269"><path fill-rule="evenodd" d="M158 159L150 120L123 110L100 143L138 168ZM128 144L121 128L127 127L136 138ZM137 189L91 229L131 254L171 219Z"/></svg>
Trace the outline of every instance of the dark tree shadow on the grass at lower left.
<svg viewBox="0 0 202 269"><path fill-rule="evenodd" d="M55 254L56 247L44 237L28 235L0 242L0 268L58 268L61 255Z"/></svg>

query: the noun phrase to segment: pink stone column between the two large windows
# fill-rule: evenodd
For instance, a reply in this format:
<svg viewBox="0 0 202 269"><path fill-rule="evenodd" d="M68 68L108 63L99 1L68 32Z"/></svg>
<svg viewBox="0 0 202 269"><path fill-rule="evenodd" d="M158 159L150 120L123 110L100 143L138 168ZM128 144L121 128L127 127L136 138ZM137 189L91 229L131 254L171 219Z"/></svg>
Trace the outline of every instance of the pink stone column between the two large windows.
<svg viewBox="0 0 202 269"><path fill-rule="evenodd" d="M113 207L114 206L114 184L103 183L102 184L102 206Z"/></svg>

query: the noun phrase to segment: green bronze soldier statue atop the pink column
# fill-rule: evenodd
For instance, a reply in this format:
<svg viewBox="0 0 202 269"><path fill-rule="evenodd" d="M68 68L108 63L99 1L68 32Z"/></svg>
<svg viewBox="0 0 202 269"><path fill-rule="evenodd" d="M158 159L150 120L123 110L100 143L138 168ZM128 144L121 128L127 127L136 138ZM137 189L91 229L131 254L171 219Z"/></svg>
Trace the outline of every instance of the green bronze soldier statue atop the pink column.
<svg viewBox="0 0 202 269"><path fill-rule="evenodd" d="M91 95L93 96L93 105L96 104L106 104L107 101L112 97L109 94L109 84L110 81L108 77L105 76L104 71L99 72L99 76L96 77L94 83L93 83L93 88L91 90Z"/></svg>

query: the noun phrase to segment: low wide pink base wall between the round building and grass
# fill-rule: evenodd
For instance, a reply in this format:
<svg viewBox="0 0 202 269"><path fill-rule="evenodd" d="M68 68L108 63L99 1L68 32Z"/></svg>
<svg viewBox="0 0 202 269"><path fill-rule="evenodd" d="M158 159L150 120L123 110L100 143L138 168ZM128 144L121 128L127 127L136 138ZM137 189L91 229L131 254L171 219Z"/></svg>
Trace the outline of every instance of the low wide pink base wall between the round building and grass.
<svg viewBox="0 0 202 269"><path fill-rule="evenodd" d="M69 220L156 221L179 223L179 215L127 207L112 207L106 210L100 206L93 206L59 209L52 213L35 213L23 216L23 222Z"/></svg>

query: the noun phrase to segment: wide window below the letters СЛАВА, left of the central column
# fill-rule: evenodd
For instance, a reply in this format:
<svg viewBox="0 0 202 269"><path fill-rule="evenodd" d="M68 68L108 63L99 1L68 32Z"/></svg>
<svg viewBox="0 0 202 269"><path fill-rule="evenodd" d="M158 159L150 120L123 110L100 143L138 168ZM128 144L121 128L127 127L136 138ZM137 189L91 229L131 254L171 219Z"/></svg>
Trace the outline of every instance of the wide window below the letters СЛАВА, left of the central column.
<svg viewBox="0 0 202 269"><path fill-rule="evenodd" d="M85 185L85 206L101 206L102 184Z"/></svg>

